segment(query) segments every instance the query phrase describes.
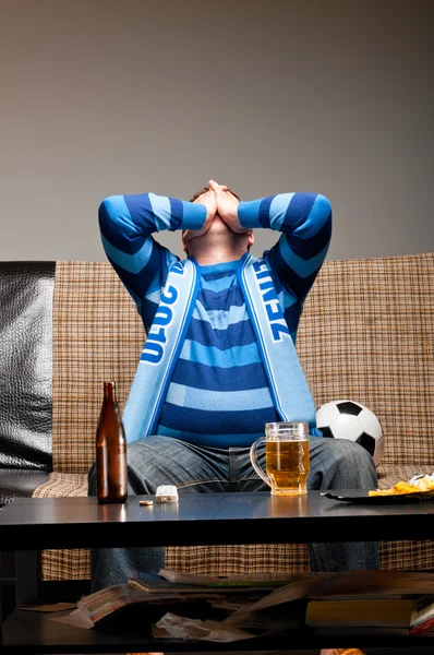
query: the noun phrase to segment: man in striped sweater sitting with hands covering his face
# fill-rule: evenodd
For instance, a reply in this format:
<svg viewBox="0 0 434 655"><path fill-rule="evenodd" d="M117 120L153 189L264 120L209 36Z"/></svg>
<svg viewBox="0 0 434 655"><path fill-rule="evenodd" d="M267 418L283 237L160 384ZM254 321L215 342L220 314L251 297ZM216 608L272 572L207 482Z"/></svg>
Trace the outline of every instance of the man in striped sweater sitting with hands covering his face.
<svg viewBox="0 0 434 655"><path fill-rule="evenodd" d="M147 334L123 414L131 493L168 484L180 495L263 490L249 450L276 420L309 422L310 489L376 487L363 448L322 438L294 349L303 301L329 245L326 198L240 202L209 180L193 202L152 193L109 198L99 223ZM281 233L262 260L249 253L253 228ZM153 239L162 229L183 230L186 260ZM378 568L373 543L320 541L309 552L316 571ZM159 548L101 549L93 553L94 591L162 565Z"/></svg>

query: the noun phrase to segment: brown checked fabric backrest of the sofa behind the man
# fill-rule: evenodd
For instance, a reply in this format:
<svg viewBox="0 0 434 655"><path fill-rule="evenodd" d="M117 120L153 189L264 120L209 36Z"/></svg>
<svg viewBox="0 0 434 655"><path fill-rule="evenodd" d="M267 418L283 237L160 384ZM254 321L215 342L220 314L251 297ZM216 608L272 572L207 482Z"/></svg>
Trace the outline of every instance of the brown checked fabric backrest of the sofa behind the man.
<svg viewBox="0 0 434 655"><path fill-rule="evenodd" d="M386 437L383 469L433 463L433 264L434 253L327 261L304 303L297 347L315 404L370 407ZM123 408L144 340L108 263L57 262L55 471L87 471L103 382L117 382Z"/></svg>

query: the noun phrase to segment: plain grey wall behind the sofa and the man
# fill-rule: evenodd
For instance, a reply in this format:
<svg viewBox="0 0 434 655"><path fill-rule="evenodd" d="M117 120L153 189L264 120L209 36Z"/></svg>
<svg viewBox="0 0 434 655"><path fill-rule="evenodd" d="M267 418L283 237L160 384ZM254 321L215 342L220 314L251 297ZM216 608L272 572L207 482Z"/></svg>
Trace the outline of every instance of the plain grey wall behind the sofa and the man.
<svg viewBox="0 0 434 655"><path fill-rule="evenodd" d="M434 250L433 5L1 0L0 259L104 261L103 198L209 177L328 195L330 259Z"/></svg>

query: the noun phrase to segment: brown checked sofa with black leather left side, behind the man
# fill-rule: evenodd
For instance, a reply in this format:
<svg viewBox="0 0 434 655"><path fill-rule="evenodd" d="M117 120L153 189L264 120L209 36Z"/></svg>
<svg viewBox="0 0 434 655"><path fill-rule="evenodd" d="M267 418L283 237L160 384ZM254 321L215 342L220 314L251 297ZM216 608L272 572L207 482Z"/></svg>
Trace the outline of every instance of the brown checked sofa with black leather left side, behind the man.
<svg viewBox="0 0 434 655"><path fill-rule="evenodd" d="M433 264L434 253L327 261L305 302L299 329L298 352L316 405L351 398L378 416L386 437L378 467L383 488L415 472L434 469ZM15 267L20 284L25 284L28 265L10 262L9 278ZM31 263L33 275L35 266ZM135 306L109 264L58 261L49 266L51 291L46 293L52 321L45 338L51 340L52 353L45 354L44 366L50 370L44 377L51 376L51 398L47 400L51 422L43 440L44 456L24 466L29 475L45 477L34 478L25 491L5 492L1 473L16 473L23 463L13 457L0 460L3 502L31 492L38 497L87 493L103 381L117 381L123 407L145 338ZM40 317L35 320L40 322ZM382 543L382 565L434 569L433 544ZM308 557L303 545L291 544L169 548L167 565L221 573L300 570L308 568ZM43 552L45 580L88 575L87 551Z"/></svg>

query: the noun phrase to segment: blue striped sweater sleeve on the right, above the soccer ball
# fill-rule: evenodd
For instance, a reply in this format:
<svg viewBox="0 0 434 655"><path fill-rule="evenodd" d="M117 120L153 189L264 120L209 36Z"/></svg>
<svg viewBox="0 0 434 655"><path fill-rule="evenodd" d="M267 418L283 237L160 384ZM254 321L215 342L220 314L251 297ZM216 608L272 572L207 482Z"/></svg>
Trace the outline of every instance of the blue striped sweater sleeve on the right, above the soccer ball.
<svg viewBox="0 0 434 655"><path fill-rule="evenodd" d="M326 258L331 237L331 205L316 193L281 193L241 202L238 215L243 227L270 228L281 234L264 253L278 286L302 305Z"/></svg>

